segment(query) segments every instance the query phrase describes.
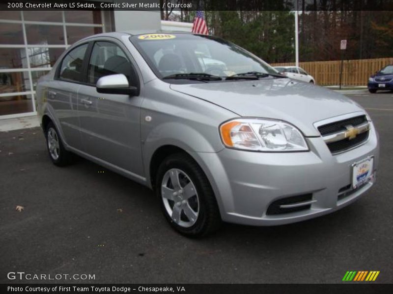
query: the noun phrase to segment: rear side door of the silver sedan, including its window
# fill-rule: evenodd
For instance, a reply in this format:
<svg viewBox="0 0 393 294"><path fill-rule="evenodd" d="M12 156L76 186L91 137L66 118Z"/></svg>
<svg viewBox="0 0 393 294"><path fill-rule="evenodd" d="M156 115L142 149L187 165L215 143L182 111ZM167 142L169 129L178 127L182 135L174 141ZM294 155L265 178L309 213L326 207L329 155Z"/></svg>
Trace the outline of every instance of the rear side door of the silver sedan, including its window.
<svg viewBox="0 0 393 294"><path fill-rule="evenodd" d="M83 79L87 48L87 43L82 44L64 56L47 93L49 109L54 112L62 139L77 149L81 149L77 92Z"/></svg>

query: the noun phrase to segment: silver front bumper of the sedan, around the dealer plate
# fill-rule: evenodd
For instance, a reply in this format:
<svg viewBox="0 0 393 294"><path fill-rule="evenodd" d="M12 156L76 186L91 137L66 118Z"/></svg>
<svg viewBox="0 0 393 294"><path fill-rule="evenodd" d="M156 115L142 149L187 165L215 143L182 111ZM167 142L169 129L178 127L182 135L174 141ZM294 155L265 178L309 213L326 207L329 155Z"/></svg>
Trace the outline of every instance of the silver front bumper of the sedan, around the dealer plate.
<svg viewBox="0 0 393 294"><path fill-rule="evenodd" d="M337 155L331 154L321 137L307 140L308 152L262 153L225 148L218 153L197 153L215 191L222 219L249 225L303 221L352 203L375 182L379 145L373 125L366 143ZM352 164L368 156L374 156L373 180L357 190L339 192L351 184ZM308 209L267 214L276 200L310 194L312 203Z"/></svg>

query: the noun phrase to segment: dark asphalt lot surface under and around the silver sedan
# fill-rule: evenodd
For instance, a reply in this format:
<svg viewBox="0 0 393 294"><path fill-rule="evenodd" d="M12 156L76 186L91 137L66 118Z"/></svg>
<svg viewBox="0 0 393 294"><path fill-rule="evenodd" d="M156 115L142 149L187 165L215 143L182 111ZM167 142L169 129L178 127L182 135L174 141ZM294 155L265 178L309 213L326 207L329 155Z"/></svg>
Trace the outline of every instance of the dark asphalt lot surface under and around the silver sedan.
<svg viewBox="0 0 393 294"><path fill-rule="evenodd" d="M63 283L340 283L347 270L393 283L393 93L349 96L380 134L369 192L313 220L224 224L200 240L174 232L149 189L84 159L55 167L39 128L0 132L0 283L45 282L13 271L95 276Z"/></svg>

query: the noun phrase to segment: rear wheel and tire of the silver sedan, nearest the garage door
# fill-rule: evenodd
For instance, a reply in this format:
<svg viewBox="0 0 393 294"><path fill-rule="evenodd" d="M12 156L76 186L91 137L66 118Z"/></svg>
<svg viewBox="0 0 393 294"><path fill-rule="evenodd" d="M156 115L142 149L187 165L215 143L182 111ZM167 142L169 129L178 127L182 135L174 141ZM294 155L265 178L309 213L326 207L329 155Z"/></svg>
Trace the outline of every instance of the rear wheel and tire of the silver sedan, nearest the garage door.
<svg viewBox="0 0 393 294"><path fill-rule="evenodd" d="M45 130L45 138L49 158L53 164L59 167L70 164L72 154L64 148L63 141L54 123L48 123Z"/></svg>

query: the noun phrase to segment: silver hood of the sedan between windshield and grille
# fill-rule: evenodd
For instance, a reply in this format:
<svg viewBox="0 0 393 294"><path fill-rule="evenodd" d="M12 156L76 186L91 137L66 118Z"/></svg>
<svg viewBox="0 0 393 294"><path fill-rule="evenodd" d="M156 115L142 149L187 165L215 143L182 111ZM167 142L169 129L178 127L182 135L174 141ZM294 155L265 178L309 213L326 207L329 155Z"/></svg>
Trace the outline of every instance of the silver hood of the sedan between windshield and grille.
<svg viewBox="0 0 393 294"><path fill-rule="evenodd" d="M315 122L364 111L359 104L341 94L288 78L171 84L170 88L224 107L242 117L292 123L306 136L320 136L313 126Z"/></svg>

